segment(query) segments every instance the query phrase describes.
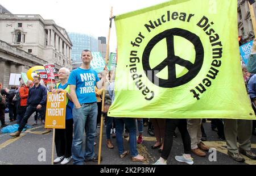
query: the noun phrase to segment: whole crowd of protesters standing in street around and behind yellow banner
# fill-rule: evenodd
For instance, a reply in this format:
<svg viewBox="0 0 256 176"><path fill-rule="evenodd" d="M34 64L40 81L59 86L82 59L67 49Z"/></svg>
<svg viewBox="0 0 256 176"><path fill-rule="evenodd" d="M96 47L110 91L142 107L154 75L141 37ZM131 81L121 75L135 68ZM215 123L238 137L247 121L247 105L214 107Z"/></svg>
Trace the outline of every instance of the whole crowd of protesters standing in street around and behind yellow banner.
<svg viewBox="0 0 256 176"><path fill-rule="evenodd" d="M254 48L256 40L254 40ZM256 48L255 48L256 51ZM256 53L256 52L255 52ZM252 57L255 57L252 56ZM255 58L256 59L256 58ZM207 140L204 132L202 119L134 119L134 118L113 118L107 115L110 104L114 101L115 72L104 72L98 74L90 68L92 53L89 50L82 51L82 66L73 70L67 68L59 70L59 83L51 85L52 93L67 92L66 103L66 128L56 129L55 146L57 158L54 163L68 164L73 159L73 164L82 165L84 162L98 161L94 152L94 141L97 136L97 126L101 118L101 106L104 106L104 117L106 127L106 146L114 148L112 138L116 137L119 158L128 154L131 161L146 161L147 158L138 153L137 144L143 143L143 125L148 126L148 134L156 137L152 149L158 148L160 158L156 165L167 164L173 143L173 137L177 137L175 129L180 131L184 146L184 154L175 156L175 160L193 164L191 154L205 157L205 151L209 146L203 141ZM250 74L246 68L242 68L247 91L251 99L254 111L256 112L256 74ZM92 84L86 84L86 81ZM102 96L102 87L105 82L105 96ZM28 80L26 84L17 89L3 89L0 83L0 120L1 127L6 127L5 108L9 108L10 121L19 123L18 131L11 136L18 137L27 123L28 118L38 112L38 118L44 120L46 111L47 88L40 85L40 77L34 76L33 82ZM105 103L102 104L102 97ZM256 135L255 121L235 119L209 119L211 128L217 131L221 141L226 141L228 155L235 161L243 162L242 154L252 160L256 155L251 152L251 135ZM136 123L137 121L137 123ZM143 123L144 122L144 123ZM137 124L137 125L136 125ZM137 127L138 126L138 139ZM85 139L85 150L82 148ZM123 137L129 136L129 149L123 147ZM237 144L238 143L238 144ZM102 159L102 158L101 158Z"/></svg>

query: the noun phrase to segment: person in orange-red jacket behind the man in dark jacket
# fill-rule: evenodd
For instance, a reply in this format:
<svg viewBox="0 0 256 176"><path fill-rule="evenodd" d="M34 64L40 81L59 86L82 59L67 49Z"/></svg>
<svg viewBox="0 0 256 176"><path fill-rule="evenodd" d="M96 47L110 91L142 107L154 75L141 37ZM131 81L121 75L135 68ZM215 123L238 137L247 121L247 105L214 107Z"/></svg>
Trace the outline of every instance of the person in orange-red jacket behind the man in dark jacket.
<svg viewBox="0 0 256 176"><path fill-rule="evenodd" d="M20 123L20 121L22 120L26 112L28 91L32 85L33 85L33 82L31 80L28 80L26 85L24 83L22 84L22 86L19 89L19 92L16 94L18 123Z"/></svg>

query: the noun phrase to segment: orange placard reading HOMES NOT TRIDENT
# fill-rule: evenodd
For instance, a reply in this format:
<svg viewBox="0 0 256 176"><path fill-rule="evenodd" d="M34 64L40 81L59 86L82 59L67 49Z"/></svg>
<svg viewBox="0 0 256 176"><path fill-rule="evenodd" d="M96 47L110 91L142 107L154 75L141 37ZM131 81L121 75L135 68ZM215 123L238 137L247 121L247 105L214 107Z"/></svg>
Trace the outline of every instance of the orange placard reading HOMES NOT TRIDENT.
<svg viewBox="0 0 256 176"><path fill-rule="evenodd" d="M51 92L47 94L45 128L65 129L66 98L65 91L59 94Z"/></svg>

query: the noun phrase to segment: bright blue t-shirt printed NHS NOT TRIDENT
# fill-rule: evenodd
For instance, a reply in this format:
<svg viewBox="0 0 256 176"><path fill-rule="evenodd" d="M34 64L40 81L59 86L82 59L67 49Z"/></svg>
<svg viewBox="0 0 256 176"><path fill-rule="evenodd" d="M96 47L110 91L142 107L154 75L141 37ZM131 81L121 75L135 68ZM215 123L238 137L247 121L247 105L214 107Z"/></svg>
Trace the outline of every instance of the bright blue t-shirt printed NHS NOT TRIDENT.
<svg viewBox="0 0 256 176"><path fill-rule="evenodd" d="M97 102L94 89L98 81L98 74L92 68L77 68L68 78L68 84L76 86L76 96L80 104Z"/></svg>

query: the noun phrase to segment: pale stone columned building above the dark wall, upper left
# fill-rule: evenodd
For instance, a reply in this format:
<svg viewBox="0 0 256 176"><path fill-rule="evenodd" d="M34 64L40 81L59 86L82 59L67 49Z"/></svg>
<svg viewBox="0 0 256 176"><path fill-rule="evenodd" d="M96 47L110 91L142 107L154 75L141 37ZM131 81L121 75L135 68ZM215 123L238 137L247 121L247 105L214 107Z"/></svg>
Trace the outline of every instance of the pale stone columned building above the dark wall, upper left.
<svg viewBox="0 0 256 176"><path fill-rule="evenodd" d="M64 28L40 15L0 14L0 40L22 49L56 69L72 70L72 42Z"/></svg>

